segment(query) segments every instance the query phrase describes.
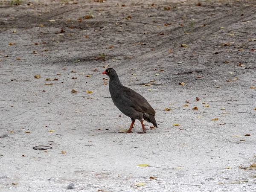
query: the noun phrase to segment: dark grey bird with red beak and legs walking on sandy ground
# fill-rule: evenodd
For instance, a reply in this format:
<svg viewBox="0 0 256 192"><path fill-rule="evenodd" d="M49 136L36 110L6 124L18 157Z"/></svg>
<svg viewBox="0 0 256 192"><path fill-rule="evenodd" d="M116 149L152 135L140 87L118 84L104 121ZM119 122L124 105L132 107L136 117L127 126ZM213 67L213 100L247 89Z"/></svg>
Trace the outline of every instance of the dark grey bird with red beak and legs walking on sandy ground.
<svg viewBox="0 0 256 192"><path fill-rule="evenodd" d="M121 84L116 71L113 68L108 68L102 72L109 77L109 92L114 105L126 116L131 118L131 125L128 131L121 133L132 133L134 122L138 119L142 125L142 132L139 134L145 134L146 129L143 124L143 119L147 122L151 122L154 127L157 128L157 122L155 120L155 111L149 105L148 101L134 90L125 87Z"/></svg>

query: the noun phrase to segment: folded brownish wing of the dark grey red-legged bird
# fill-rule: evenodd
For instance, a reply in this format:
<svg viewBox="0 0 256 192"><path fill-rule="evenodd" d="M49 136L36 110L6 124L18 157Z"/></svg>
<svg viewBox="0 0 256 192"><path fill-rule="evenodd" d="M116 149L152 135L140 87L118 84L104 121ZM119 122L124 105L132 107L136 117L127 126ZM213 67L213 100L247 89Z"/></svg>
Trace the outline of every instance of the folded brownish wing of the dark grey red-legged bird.
<svg viewBox="0 0 256 192"><path fill-rule="evenodd" d="M123 91L123 99L126 101L128 106L133 107L137 111L155 115L154 109L151 107L151 105L149 105L148 101L143 96L124 86Z"/></svg>

